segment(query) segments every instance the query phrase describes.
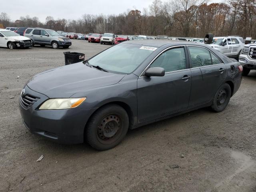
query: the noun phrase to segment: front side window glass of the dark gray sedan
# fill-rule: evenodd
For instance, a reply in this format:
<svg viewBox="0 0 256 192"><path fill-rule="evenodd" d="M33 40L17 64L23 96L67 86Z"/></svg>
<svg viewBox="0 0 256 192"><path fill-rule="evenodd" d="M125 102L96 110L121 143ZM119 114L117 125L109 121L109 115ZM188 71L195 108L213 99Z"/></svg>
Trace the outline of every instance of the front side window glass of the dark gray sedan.
<svg viewBox="0 0 256 192"><path fill-rule="evenodd" d="M186 69L186 56L184 48L173 48L162 53L150 67L162 67L165 72Z"/></svg>

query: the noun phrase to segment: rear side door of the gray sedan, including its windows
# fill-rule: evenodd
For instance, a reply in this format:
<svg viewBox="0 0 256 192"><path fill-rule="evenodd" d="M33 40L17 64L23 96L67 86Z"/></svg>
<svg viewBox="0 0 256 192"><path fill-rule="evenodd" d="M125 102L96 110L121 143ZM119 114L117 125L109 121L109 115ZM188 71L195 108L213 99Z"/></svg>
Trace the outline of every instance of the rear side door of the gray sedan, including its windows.
<svg viewBox="0 0 256 192"><path fill-rule="evenodd" d="M189 108L210 102L226 78L226 65L210 50L188 46L192 88Z"/></svg>

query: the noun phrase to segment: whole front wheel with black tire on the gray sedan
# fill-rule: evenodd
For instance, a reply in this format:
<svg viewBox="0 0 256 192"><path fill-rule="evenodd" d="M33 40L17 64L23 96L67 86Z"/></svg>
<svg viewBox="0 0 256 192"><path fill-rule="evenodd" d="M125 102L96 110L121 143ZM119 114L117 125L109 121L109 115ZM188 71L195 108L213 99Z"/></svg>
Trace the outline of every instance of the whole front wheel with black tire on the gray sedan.
<svg viewBox="0 0 256 192"><path fill-rule="evenodd" d="M129 117L124 108L109 104L98 109L85 128L88 144L96 150L108 150L118 145L129 127Z"/></svg>

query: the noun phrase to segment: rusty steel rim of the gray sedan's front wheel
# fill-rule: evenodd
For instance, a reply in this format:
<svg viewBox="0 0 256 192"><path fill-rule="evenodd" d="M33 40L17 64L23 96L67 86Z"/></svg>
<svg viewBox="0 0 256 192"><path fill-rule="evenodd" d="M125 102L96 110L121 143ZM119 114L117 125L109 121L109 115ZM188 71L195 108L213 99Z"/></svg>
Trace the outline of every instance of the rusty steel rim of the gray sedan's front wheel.
<svg viewBox="0 0 256 192"><path fill-rule="evenodd" d="M102 144L111 144L115 142L122 130L122 119L118 114L106 115L98 124L97 139Z"/></svg>

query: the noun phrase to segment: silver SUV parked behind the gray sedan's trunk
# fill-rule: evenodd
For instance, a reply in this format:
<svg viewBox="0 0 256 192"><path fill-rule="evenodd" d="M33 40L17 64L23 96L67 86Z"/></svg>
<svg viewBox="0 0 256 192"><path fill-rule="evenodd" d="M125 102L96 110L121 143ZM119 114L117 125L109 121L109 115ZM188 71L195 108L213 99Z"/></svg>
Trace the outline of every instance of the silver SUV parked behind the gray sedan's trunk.
<svg viewBox="0 0 256 192"><path fill-rule="evenodd" d="M239 59L244 39L240 36L214 37L212 44L208 44L229 58Z"/></svg>

